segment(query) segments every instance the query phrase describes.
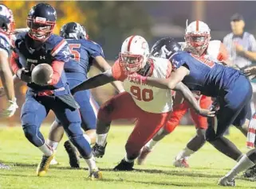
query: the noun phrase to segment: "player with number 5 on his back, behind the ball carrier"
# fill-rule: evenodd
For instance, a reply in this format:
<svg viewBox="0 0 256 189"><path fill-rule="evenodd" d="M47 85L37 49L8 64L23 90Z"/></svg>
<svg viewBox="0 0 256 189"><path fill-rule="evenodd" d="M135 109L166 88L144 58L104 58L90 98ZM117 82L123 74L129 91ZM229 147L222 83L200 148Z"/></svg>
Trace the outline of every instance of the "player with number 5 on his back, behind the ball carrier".
<svg viewBox="0 0 256 189"><path fill-rule="evenodd" d="M77 85L88 79L88 72L92 65L106 71L110 68L109 64L104 60L103 50L99 44L92 40L88 40L85 28L76 22L69 22L61 27L60 36L64 37L69 44L71 58L64 65L65 75L67 77L69 88L73 89ZM118 92L124 91L120 82L112 83ZM89 90L78 91L73 95L76 102L80 106L80 114L82 120L82 128L85 130L84 137L89 144L93 145L96 141L96 114L98 104L93 99ZM64 129L61 122L56 119L53 122L49 133L47 144L56 149L57 144L61 141ZM76 149L69 141L65 141L65 149L69 153L69 164L72 168L79 168L79 158ZM51 164L57 164L53 159Z"/></svg>

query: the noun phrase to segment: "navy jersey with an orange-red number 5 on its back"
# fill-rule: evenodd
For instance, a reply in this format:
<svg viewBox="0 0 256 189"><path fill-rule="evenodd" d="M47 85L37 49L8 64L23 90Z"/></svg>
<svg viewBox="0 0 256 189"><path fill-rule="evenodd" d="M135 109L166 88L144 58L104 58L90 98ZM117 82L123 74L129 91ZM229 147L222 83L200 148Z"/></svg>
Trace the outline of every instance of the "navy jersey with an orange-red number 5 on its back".
<svg viewBox="0 0 256 189"><path fill-rule="evenodd" d="M81 82L87 79L87 73L93 64L96 56L104 57L102 48L99 44L91 40L67 39L71 58L65 63L64 69L69 79L76 79Z"/></svg>

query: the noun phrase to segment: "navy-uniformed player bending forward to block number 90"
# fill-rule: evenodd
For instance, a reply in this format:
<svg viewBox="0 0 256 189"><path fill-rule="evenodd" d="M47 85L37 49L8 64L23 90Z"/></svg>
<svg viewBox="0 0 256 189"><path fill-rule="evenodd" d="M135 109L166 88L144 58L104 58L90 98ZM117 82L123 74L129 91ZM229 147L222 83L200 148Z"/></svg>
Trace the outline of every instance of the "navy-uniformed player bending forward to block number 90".
<svg viewBox="0 0 256 189"><path fill-rule="evenodd" d="M173 71L170 79L146 78L138 75L136 79L154 87L173 89L182 81L191 91L218 98L219 110L214 119L208 118L206 139L220 152L233 160L240 160L242 152L223 137L223 133L233 124L240 127L246 121L250 107L252 88L241 71L225 67L211 60L182 52L180 45L170 38L167 52ZM153 52L154 54L154 52Z"/></svg>

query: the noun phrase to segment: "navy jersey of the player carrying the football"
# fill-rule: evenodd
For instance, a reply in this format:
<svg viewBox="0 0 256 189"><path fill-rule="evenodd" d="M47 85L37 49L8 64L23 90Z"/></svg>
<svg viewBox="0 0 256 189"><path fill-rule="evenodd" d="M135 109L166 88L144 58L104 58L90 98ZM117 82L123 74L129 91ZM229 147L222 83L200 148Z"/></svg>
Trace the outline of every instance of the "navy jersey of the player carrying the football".
<svg viewBox="0 0 256 189"><path fill-rule="evenodd" d="M67 62L70 52L65 39L57 35L51 35L39 48L30 48L31 38L27 33L18 34L14 42L14 52L18 54L18 67L32 71L37 64L49 64L53 61ZM67 80L65 72L62 71L61 78L54 86L40 86L35 83L28 83L33 91L54 90L65 87Z"/></svg>

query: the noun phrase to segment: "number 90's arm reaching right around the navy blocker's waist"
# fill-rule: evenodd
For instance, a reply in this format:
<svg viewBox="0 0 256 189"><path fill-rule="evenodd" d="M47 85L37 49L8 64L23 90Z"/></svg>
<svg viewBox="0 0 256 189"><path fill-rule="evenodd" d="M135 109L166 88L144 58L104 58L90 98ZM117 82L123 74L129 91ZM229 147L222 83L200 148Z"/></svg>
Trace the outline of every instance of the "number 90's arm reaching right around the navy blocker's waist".
<svg viewBox="0 0 256 189"><path fill-rule="evenodd" d="M195 109L195 111L205 117L214 117L215 111L207 110L207 109L201 109L199 106L199 102L195 99L195 96L192 94L192 92L188 89L186 85L184 85L182 82L179 82L175 85L174 91L179 91L183 97L191 104L191 106Z"/></svg>

